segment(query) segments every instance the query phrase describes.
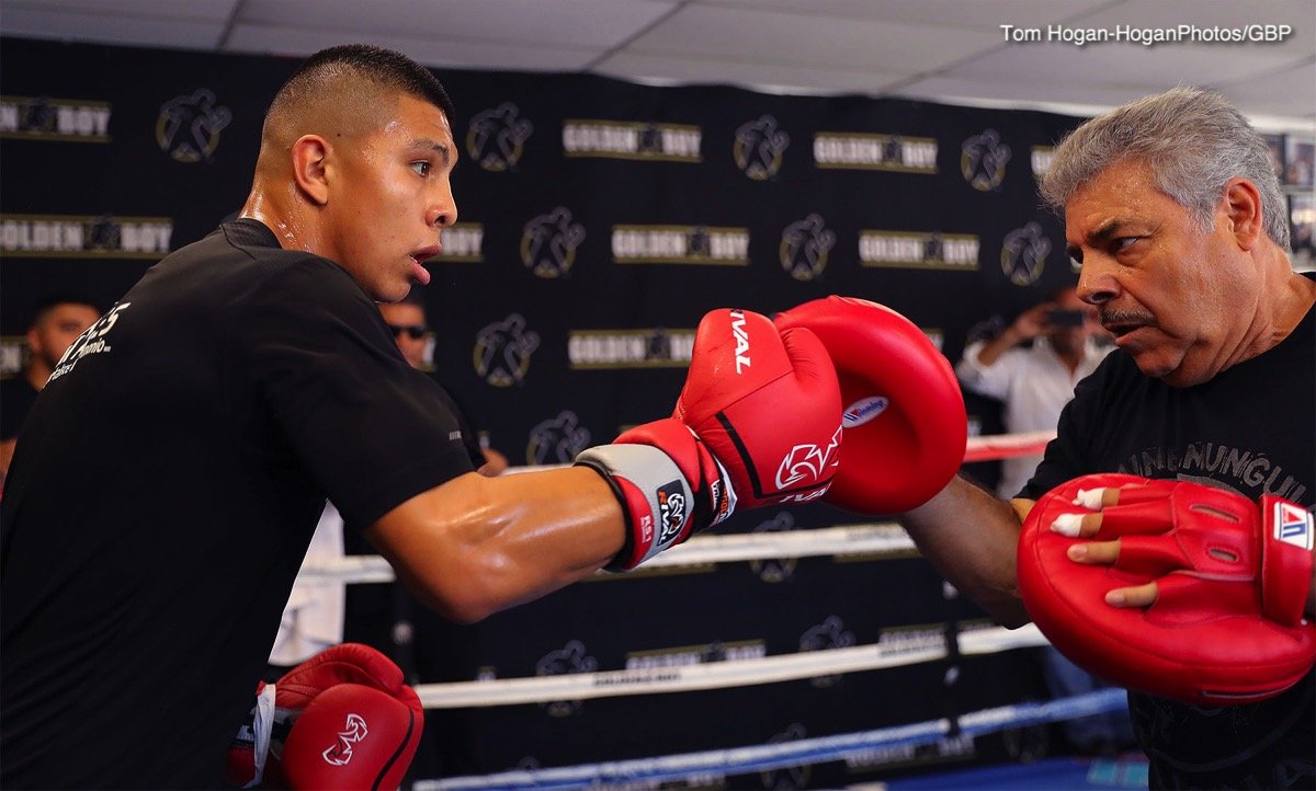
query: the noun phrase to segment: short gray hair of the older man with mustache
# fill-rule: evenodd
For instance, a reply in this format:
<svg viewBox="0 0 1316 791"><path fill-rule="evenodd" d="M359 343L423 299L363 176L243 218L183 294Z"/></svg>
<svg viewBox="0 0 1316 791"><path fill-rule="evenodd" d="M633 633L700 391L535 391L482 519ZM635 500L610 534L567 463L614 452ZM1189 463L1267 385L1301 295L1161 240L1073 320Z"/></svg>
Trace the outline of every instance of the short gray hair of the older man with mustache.
<svg viewBox="0 0 1316 791"><path fill-rule="evenodd" d="M1187 209L1203 233L1211 227L1225 183L1238 176L1252 181L1261 193L1266 235L1290 250L1288 208L1270 148L1223 97L1179 87L1087 121L1055 148L1042 198L1063 212L1087 181L1129 159L1150 166L1157 187Z"/></svg>

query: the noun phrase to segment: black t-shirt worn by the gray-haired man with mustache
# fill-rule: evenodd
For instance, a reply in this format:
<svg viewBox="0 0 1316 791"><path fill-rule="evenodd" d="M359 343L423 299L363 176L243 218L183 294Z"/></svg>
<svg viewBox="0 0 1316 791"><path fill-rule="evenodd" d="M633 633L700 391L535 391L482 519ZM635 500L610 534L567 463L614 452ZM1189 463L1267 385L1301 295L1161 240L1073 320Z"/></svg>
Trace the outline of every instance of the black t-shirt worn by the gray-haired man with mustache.
<svg viewBox="0 0 1316 791"><path fill-rule="evenodd" d="M1211 482L1316 505L1316 309L1282 343L1194 388L1115 352L1079 382L1021 497L1086 473ZM1130 694L1152 787L1316 787L1316 675L1278 698L1203 708Z"/></svg>

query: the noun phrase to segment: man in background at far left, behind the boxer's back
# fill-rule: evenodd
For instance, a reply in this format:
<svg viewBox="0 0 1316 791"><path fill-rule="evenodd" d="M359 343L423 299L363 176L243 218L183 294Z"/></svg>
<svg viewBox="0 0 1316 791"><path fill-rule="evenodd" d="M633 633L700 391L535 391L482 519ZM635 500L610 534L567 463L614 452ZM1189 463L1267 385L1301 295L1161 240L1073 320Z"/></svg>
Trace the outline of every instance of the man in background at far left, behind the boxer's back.
<svg viewBox="0 0 1316 791"><path fill-rule="evenodd" d="M0 478L9 472L18 428L59 364L59 357L87 327L100 318L100 309L74 294L54 294L37 302L28 323L28 367L0 381Z"/></svg>

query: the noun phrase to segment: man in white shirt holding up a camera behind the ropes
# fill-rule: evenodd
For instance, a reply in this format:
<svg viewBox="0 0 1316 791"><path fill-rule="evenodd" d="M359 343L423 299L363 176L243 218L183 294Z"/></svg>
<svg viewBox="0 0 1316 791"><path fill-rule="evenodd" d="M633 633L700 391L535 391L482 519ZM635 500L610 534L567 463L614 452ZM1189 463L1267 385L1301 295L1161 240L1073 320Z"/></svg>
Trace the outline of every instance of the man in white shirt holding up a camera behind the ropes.
<svg viewBox="0 0 1316 791"><path fill-rule="evenodd" d="M1074 398L1079 380L1113 348L1096 319L1096 309L1067 284L1033 305L996 338L965 348L955 376L967 390L1001 403L1001 422L1011 434L1054 431L1061 410ZM1041 453L1001 460L996 493L1019 494L1033 476ZM1105 682L1069 661L1053 646L1041 649L1046 687L1054 698L1069 698L1107 687ZM1063 723L1065 737L1080 753L1103 754L1133 745L1128 708Z"/></svg>

